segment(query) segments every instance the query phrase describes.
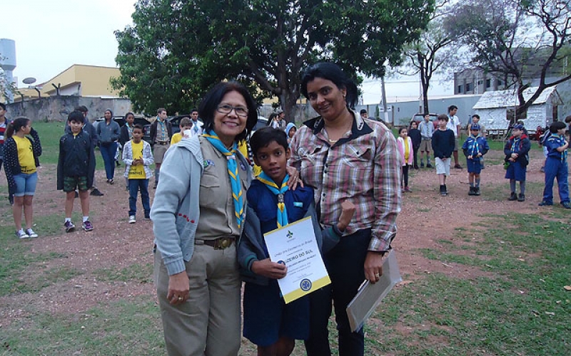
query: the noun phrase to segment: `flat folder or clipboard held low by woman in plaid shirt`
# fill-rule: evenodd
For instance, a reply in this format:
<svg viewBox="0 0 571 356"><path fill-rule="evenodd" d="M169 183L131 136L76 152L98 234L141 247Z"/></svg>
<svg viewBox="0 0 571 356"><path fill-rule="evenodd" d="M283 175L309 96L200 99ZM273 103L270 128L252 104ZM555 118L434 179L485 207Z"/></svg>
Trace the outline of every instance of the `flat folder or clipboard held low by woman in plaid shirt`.
<svg viewBox="0 0 571 356"><path fill-rule="evenodd" d="M353 332L363 328L375 308L400 281L403 281L403 278L400 277L395 251L390 251L383 261L383 276L374 284L365 281L355 298L347 305L347 316Z"/></svg>

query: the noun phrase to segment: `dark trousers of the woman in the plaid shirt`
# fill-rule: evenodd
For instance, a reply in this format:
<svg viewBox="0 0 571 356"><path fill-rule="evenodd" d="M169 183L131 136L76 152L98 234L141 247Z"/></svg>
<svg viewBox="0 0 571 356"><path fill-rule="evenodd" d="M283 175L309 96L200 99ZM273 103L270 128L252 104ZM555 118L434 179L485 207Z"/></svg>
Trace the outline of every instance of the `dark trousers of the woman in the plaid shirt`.
<svg viewBox="0 0 571 356"><path fill-rule="evenodd" d="M340 356L363 356L363 328L351 331L345 309L365 280L365 258L370 242L370 229L344 236L339 244L323 257L331 284L310 294L310 335L305 341L308 356L330 356L328 320L331 299L335 304L335 322L339 332Z"/></svg>

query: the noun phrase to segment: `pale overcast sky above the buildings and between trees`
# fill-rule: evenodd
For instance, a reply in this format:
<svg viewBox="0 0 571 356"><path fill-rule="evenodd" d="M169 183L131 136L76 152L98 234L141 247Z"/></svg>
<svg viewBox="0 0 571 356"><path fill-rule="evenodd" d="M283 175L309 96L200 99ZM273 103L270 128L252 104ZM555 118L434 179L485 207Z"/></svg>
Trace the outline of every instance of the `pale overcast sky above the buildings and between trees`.
<svg viewBox="0 0 571 356"><path fill-rule="evenodd" d="M132 24L135 0L13 0L2 5L0 38L16 42L18 87L24 78L44 83L74 64L115 67L113 31ZM418 77L385 80L388 100L418 98ZM380 80L366 79L363 103L380 103ZM433 80L429 95L453 94L450 83Z"/></svg>

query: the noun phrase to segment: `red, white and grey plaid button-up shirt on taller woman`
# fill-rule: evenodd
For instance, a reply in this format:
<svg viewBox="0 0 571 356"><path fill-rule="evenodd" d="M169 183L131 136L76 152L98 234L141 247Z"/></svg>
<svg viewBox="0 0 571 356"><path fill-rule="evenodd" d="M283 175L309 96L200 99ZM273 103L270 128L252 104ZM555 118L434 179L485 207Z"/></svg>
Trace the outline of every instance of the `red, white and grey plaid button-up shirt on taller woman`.
<svg viewBox="0 0 571 356"><path fill-rule="evenodd" d="M338 223L341 202L355 204L345 235L371 229L370 251L388 251L400 212L400 164L393 133L382 123L360 117L350 132L330 145L321 117L304 122L290 148L289 164L315 191L322 226Z"/></svg>

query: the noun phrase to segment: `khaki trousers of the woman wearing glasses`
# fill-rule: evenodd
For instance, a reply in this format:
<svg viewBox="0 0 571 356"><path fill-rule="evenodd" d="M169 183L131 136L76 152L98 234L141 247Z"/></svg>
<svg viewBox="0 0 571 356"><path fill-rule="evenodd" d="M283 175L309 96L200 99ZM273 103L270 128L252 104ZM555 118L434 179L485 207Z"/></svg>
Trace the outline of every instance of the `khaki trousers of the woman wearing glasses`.
<svg viewBox="0 0 571 356"><path fill-rule="evenodd" d="M223 250L195 245L186 273L190 299L171 305L168 273L155 253L157 297L169 356L236 356L241 344L241 280L236 244Z"/></svg>

